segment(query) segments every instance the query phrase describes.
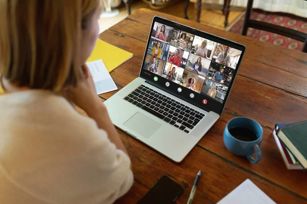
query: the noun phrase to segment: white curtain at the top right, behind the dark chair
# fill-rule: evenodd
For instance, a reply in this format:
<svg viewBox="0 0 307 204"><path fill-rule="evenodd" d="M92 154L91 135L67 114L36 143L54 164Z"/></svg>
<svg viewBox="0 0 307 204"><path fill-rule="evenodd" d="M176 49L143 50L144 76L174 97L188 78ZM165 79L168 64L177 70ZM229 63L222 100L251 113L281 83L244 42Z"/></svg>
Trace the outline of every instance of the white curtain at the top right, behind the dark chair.
<svg viewBox="0 0 307 204"><path fill-rule="evenodd" d="M224 0L205 0L203 2L224 5ZM247 0L231 0L230 5L246 7ZM291 13L307 18L307 1L304 0L254 0L253 8L271 12Z"/></svg>

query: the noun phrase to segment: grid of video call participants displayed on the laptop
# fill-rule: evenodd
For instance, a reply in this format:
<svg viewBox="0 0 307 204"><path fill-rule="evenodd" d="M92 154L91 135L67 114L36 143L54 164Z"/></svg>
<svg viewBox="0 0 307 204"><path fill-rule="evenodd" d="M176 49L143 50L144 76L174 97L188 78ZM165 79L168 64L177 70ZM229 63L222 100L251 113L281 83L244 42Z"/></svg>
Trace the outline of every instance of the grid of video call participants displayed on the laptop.
<svg viewBox="0 0 307 204"><path fill-rule="evenodd" d="M241 50L155 22L143 68L223 103Z"/></svg>

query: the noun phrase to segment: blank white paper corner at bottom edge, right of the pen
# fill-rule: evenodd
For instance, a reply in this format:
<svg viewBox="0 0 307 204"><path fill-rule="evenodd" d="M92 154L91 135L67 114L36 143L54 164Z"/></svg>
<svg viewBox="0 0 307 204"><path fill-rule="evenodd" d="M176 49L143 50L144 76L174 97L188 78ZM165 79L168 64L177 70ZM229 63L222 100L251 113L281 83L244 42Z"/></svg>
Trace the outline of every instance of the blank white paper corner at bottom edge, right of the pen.
<svg viewBox="0 0 307 204"><path fill-rule="evenodd" d="M217 204L276 204L249 179L236 187Z"/></svg>

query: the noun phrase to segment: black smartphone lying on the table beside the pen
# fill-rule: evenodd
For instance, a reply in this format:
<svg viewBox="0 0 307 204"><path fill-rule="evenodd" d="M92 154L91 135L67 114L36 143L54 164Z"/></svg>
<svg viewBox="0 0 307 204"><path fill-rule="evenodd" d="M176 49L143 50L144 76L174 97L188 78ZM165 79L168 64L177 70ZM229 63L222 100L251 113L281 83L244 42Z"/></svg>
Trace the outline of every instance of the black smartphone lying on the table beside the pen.
<svg viewBox="0 0 307 204"><path fill-rule="evenodd" d="M138 204L173 203L183 192L183 187L166 175L141 198Z"/></svg>

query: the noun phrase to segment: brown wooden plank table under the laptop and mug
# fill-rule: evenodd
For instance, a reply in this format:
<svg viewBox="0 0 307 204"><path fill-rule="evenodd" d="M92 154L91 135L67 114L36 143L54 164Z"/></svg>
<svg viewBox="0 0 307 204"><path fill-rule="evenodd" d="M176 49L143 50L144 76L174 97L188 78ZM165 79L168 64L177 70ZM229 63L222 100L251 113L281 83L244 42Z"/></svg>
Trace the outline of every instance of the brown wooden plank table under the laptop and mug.
<svg viewBox="0 0 307 204"><path fill-rule="evenodd" d="M180 164L119 131L132 161L135 184L117 203L136 203L162 175L184 186L177 203L186 203L200 169L204 173L193 203L216 203L246 179L277 203L307 203L307 171L288 170L272 136L276 122L307 119L307 54L141 9L100 35L102 40L134 54L111 73L119 89L139 75L154 15L245 44L247 52L223 115ZM107 99L113 94L100 96ZM237 116L253 118L264 129L258 164L232 155L224 146L225 125Z"/></svg>

